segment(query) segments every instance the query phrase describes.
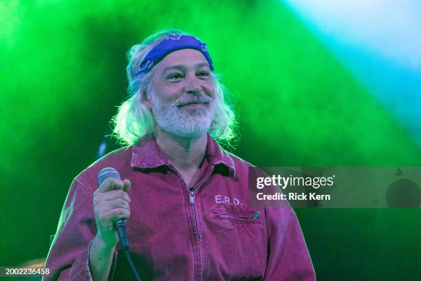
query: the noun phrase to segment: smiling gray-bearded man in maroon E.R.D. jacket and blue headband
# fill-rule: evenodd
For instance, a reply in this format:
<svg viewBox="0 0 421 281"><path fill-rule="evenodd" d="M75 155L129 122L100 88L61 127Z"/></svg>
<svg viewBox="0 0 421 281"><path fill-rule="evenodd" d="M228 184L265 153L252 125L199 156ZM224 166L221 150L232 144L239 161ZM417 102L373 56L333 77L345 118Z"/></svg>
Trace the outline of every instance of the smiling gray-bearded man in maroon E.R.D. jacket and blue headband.
<svg viewBox="0 0 421 281"><path fill-rule="evenodd" d="M235 118L205 44L177 30L129 52L129 98L114 121L127 147L85 169L67 194L45 280L129 280L115 222L127 219L142 280L314 280L290 207L248 205ZM101 169L122 179L98 187Z"/></svg>

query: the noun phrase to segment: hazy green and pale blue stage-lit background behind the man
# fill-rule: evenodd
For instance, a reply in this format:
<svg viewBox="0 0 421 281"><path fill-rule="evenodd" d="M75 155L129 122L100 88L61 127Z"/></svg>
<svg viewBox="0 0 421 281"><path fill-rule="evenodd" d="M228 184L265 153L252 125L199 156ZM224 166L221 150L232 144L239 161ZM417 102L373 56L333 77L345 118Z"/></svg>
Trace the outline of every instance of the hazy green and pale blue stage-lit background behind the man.
<svg viewBox="0 0 421 281"><path fill-rule="evenodd" d="M160 28L208 44L239 116L233 152L250 163L421 165L415 0L28 0L0 16L2 266L47 255L126 97L126 52ZM420 209L296 214L319 280L419 278Z"/></svg>

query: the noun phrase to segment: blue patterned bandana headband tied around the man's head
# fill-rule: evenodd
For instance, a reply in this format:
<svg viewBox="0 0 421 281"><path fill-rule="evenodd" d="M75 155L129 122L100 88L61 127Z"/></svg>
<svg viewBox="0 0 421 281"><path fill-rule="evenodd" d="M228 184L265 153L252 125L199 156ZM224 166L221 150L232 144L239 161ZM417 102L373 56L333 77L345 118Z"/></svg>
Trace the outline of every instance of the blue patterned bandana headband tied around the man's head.
<svg viewBox="0 0 421 281"><path fill-rule="evenodd" d="M209 63L210 70L213 71L213 63L212 59L210 59L208 50L206 50L206 43L202 43L190 35L170 35L149 51L142 63L140 63L139 70L136 72L135 77L138 78L139 76L147 74L151 71L152 67L164 59L164 56L170 52L182 49L195 49L202 52L206 61Z"/></svg>

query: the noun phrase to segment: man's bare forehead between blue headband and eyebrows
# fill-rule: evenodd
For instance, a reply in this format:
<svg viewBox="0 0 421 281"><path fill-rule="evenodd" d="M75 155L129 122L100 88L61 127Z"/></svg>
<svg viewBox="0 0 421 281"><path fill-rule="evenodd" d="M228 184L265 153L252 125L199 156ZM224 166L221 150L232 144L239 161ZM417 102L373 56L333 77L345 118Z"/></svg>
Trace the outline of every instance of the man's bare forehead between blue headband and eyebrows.
<svg viewBox="0 0 421 281"><path fill-rule="evenodd" d="M206 58L199 52L198 50L194 49L183 49L177 50L167 54L160 63L155 65L157 70L164 70L165 67L169 67L172 65L184 65L186 67L193 67L199 63L206 63Z"/></svg>

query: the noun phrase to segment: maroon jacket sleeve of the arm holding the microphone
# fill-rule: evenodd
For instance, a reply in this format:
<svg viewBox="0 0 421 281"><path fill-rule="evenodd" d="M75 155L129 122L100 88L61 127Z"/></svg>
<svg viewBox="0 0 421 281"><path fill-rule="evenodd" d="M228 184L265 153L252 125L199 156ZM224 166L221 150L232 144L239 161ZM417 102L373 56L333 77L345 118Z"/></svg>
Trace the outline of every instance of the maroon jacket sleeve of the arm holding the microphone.
<svg viewBox="0 0 421 281"><path fill-rule="evenodd" d="M43 280L92 280L89 271L89 247L96 235L93 192L74 180L63 209L54 240L48 252ZM112 280L117 253L109 273Z"/></svg>

